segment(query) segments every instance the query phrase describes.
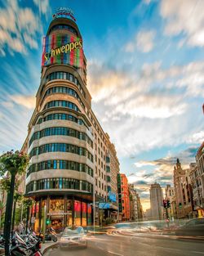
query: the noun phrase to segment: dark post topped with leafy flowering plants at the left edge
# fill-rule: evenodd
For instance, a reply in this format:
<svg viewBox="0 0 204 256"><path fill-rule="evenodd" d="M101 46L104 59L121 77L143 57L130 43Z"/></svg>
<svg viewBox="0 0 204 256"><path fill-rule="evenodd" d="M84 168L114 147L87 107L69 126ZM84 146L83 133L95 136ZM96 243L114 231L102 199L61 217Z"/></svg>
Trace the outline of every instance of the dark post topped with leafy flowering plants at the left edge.
<svg viewBox="0 0 204 256"><path fill-rule="evenodd" d="M22 175L25 173L26 168L29 165L29 156L22 151L14 150L7 151L0 156L0 175L2 177L1 186L2 189L7 191L7 205L5 213L4 225L4 239L5 239L5 254L9 254L9 240L11 232L11 216L13 197L16 184L16 174Z"/></svg>

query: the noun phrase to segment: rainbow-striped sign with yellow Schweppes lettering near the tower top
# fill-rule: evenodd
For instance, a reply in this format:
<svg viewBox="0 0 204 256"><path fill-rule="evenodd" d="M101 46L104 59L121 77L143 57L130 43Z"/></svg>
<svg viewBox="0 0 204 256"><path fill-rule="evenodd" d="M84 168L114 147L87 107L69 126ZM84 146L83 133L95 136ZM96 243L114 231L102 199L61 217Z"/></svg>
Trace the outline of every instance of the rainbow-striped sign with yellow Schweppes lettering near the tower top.
<svg viewBox="0 0 204 256"><path fill-rule="evenodd" d="M51 35L43 39L42 66L68 64L83 65L82 39L77 36Z"/></svg>

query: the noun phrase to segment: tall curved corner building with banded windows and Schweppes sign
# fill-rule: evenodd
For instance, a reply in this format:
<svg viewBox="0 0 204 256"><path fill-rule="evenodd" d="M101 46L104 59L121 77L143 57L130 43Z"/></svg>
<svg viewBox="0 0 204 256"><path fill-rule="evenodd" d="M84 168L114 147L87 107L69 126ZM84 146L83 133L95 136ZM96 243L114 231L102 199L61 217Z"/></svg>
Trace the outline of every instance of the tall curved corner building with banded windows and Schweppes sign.
<svg viewBox="0 0 204 256"><path fill-rule="evenodd" d="M110 170L106 173L111 143L91 110L82 35L67 14L56 13L43 38L41 83L24 142L30 155L25 195L36 201L35 230L42 227L45 210L55 229L90 225L93 185L98 201L107 201L111 191ZM116 152L113 160L118 161ZM110 207L109 216L116 216L115 210Z"/></svg>

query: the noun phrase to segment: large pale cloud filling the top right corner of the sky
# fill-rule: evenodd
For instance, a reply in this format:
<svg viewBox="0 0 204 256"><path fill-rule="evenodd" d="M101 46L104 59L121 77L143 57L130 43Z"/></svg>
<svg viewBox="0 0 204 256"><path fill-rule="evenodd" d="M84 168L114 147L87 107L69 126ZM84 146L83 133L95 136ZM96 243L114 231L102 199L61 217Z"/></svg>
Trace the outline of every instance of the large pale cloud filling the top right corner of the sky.
<svg viewBox="0 0 204 256"><path fill-rule="evenodd" d="M183 34L188 45L204 46L204 2L162 0L161 15L166 19L167 35Z"/></svg>

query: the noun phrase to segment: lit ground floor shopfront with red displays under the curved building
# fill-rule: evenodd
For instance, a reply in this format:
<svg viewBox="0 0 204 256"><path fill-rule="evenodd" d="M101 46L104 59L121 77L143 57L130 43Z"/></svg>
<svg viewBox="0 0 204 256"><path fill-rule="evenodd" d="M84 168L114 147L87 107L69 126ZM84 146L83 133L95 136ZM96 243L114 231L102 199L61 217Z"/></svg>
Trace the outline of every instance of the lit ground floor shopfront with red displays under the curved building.
<svg viewBox="0 0 204 256"><path fill-rule="evenodd" d="M35 198L30 214L34 231L42 229L45 219L47 227L53 227L59 232L64 227L90 226L92 202L74 195L47 195Z"/></svg>

